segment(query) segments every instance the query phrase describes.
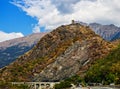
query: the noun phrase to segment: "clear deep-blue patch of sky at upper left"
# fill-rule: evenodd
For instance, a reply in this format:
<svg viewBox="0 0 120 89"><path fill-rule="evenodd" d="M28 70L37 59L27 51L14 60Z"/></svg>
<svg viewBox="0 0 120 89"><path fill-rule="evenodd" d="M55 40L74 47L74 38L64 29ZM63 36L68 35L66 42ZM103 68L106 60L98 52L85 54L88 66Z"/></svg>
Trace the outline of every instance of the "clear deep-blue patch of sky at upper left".
<svg viewBox="0 0 120 89"><path fill-rule="evenodd" d="M11 0L0 0L0 30L21 32L24 35L32 33L37 20L25 14L20 8L10 3Z"/></svg>

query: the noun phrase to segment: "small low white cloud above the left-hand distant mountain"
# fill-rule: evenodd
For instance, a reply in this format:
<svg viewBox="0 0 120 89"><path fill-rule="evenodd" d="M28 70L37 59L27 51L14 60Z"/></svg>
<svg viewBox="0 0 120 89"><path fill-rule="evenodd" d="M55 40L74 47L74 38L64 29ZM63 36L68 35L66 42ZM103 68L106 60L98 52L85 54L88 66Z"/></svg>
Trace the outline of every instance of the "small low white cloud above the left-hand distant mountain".
<svg viewBox="0 0 120 89"><path fill-rule="evenodd" d="M19 37L23 37L24 35L20 32L15 33L5 33L3 31L0 31L0 42L2 41L6 41L6 40L10 40L10 39L14 39L14 38L19 38Z"/></svg>

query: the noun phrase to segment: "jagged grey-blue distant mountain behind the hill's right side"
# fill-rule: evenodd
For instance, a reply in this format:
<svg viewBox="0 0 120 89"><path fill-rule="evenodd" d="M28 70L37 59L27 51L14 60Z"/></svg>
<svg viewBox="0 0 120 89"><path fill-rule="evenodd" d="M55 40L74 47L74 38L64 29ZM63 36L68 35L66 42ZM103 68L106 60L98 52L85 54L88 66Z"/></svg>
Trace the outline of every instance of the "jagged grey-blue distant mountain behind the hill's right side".
<svg viewBox="0 0 120 89"><path fill-rule="evenodd" d="M80 24L90 26L96 34L100 35L105 40L113 41L116 39L120 39L120 27L117 27L113 24L102 25L99 23L87 24L83 22L80 22Z"/></svg>

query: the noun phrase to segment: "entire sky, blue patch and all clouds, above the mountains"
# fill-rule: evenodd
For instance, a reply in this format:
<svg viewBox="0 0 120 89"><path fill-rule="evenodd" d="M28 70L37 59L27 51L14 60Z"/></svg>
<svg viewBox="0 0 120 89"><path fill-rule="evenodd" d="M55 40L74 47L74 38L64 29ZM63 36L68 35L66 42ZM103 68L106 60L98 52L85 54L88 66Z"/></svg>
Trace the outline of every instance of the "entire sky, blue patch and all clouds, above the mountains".
<svg viewBox="0 0 120 89"><path fill-rule="evenodd" d="M51 31L72 19L120 26L119 0L0 0L0 42Z"/></svg>

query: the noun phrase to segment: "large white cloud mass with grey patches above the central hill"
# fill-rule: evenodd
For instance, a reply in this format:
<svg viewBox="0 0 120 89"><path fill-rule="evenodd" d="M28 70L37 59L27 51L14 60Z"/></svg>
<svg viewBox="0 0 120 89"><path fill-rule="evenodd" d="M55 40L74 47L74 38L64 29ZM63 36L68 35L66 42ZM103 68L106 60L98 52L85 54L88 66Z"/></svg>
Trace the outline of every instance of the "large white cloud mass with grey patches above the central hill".
<svg viewBox="0 0 120 89"><path fill-rule="evenodd" d="M53 29L72 19L120 26L119 0L14 0L12 3L37 18L33 32L40 32L43 26Z"/></svg>

